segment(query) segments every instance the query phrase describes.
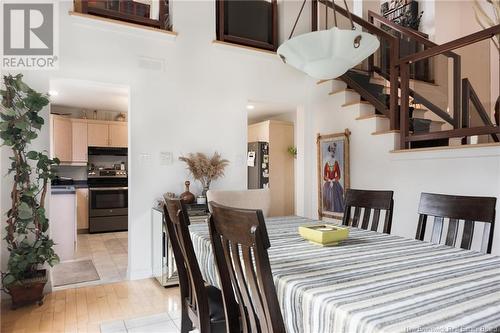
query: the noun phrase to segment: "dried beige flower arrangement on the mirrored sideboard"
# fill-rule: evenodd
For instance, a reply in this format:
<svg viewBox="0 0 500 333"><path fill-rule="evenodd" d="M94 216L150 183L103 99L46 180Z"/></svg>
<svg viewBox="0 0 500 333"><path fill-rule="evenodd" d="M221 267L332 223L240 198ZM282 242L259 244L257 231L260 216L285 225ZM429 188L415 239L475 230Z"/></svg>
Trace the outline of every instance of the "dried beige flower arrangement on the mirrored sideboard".
<svg viewBox="0 0 500 333"><path fill-rule="evenodd" d="M187 164L187 168L193 178L198 180L203 187L202 196L206 197L212 181L224 176L224 169L229 161L215 152L212 157L203 153L190 153L187 157L179 157L179 160Z"/></svg>

